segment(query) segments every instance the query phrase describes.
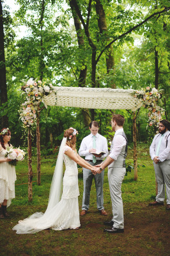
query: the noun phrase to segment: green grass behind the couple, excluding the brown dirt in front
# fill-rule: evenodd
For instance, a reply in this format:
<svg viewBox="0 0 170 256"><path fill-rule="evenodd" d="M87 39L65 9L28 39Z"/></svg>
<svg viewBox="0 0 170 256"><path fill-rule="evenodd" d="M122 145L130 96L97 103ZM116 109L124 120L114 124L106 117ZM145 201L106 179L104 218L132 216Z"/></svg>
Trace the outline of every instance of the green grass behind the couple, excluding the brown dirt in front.
<svg viewBox="0 0 170 256"><path fill-rule="evenodd" d="M143 146L143 147L141 147ZM141 145L138 149L138 179L134 180L134 172L128 172L122 184L123 202L148 202L155 198L155 172L153 163L149 155L149 146ZM128 150L127 163L133 164L132 149ZM56 159L53 156L43 157L41 161L41 186L36 184L36 157L33 157L33 202L31 205L47 205L49 198L50 183L54 172ZM143 167L143 164L145 167ZM17 182L15 186L16 198L12 201L13 205L25 205L27 202L27 160L20 162L16 166ZM82 168L79 168L79 206L81 207L83 182ZM110 204L109 184L107 180L107 169L104 177L104 202ZM90 205L96 204L95 182L91 188Z"/></svg>

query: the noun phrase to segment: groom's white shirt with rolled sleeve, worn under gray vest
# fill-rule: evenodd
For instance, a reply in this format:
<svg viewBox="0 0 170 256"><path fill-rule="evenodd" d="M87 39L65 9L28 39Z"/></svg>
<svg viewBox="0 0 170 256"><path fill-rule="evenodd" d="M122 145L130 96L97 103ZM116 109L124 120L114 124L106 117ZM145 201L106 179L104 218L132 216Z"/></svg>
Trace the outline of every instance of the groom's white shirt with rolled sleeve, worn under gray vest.
<svg viewBox="0 0 170 256"><path fill-rule="evenodd" d="M111 157L114 160L118 159L121 149L123 148L123 146L125 146L127 144L125 137L118 134L119 132L123 132L123 128L120 128L115 132L114 138L112 140L113 147L111 148L111 152L109 154L109 157Z"/></svg>

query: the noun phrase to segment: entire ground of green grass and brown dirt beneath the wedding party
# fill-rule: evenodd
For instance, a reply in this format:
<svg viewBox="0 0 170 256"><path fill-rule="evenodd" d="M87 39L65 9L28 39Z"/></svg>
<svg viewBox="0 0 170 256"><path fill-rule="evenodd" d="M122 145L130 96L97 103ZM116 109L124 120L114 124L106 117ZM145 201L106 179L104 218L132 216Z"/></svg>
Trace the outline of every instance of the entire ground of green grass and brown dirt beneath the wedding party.
<svg viewBox="0 0 170 256"><path fill-rule="evenodd" d="M129 147L127 163L132 164L133 150ZM138 179L134 173L125 176L122 197L125 216L123 234L104 233L104 221L111 220L111 198L104 177L104 206L108 216L97 211L95 182L91 188L89 212L81 217L79 230L43 230L36 234L17 235L12 227L19 220L36 211L45 212L48 204L50 182L54 172L54 156L42 157L41 186L36 184L36 157L33 157L33 201L27 202L27 160L16 166L15 199L8 207L10 218L0 220L0 255L73 255L73 256L169 256L170 212L163 207L149 207L155 198L155 173L149 155L149 146L138 147ZM143 164L146 167L143 167ZM83 182L79 168L79 209L81 211Z"/></svg>

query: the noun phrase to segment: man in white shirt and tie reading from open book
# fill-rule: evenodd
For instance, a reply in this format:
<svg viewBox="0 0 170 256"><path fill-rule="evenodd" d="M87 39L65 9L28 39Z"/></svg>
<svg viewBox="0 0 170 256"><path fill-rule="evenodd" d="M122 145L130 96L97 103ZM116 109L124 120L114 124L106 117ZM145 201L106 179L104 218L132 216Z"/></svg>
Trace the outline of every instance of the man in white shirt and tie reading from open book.
<svg viewBox="0 0 170 256"><path fill-rule="evenodd" d="M92 121L89 124L89 131L91 133L82 140L81 147L79 149L79 156L84 156L85 160L93 166L102 163L102 160L109 154L107 140L104 136L98 133L98 129L98 122ZM84 191L82 197L81 216L86 215L89 209L89 197L93 178L95 179L95 187L97 192L97 209L100 211L100 214L107 216L107 212L104 209L104 171L102 173L93 175L91 170L86 168L83 168L82 170Z"/></svg>

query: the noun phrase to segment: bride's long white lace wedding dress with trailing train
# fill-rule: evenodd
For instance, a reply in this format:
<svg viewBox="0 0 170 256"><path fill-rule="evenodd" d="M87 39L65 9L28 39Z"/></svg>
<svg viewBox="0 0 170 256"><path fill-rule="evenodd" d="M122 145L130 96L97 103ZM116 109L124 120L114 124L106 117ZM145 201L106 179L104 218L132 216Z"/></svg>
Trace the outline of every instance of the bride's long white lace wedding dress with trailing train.
<svg viewBox="0 0 170 256"><path fill-rule="evenodd" d="M61 200L58 200L57 203L55 202L56 197L58 197L58 190L55 191L56 186L60 189L57 184L59 179L58 176L55 177L55 171L51 185L53 188L50 189L47 210L44 214L42 212L35 212L35 214L29 216L29 218L19 221L19 224L13 227L13 230L16 230L17 234L33 234L47 228L54 230L67 228L75 229L81 226L79 218L77 164L70 159L70 157L65 155L66 150L72 150L72 148L66 145L63 147L63 159L65 161L66 170L64 177L62 175L63 193Z"/></svg>

